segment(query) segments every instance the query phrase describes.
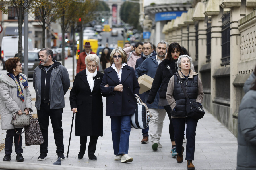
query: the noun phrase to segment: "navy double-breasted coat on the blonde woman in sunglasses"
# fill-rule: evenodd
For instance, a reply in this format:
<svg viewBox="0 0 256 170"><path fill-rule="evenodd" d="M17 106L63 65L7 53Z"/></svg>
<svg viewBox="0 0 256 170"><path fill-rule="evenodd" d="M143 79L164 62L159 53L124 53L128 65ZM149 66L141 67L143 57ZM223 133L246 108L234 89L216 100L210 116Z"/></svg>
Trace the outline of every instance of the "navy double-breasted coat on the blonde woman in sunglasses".
<svg viewBox="0 0 256 170"><path fill-rule="evenodd" d="M104 87L106 84L109 87ZM123 85L123 92L114 91L114 87L119 84ZM119 82L117 72L112 67L106 68L100 86L102 95L107 98L106 116L134 114L136 99L133 94L139 94L140 87L133 67L123 66L121 82Z"/></svg>

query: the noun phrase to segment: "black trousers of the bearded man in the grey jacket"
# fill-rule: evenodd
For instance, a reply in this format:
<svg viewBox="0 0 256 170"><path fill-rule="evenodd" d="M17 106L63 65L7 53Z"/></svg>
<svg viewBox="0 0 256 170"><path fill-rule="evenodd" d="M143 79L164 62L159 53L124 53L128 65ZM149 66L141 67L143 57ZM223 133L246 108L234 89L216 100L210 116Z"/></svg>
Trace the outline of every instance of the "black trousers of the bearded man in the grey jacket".
<svg viewBox="0 0 256 170"><path fill-rule="evenodd" d="M56 153L64 152L63 144L63 129L62 129L62 112L61 109L50 109L50 103L41 102L40 110L37 111L38 122L42 135L44 138L44 143L40 145L40 153L47 153L48 147L48 127L49 127L49 118L51 118L51 124L54 133L54 140L56 145Z"/></svg>

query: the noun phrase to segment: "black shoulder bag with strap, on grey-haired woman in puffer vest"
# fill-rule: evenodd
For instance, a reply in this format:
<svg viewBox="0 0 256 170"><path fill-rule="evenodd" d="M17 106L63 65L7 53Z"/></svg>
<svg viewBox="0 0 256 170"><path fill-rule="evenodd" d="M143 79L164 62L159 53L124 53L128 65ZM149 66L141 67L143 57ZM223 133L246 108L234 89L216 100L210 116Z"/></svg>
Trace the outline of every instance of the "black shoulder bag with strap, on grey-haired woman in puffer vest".
<svg viewBox="0 0 256 170"><path fill-rule="evenodd" d="M179 79L179 83L181 85L181 88L185 94L185 97L186 97L186 111L187 111L187 116L188 117L191 117L193 119L196 119L196 120L199 120L201 118L204 117L205 115L205 111L203 109L203 106L195 101L192 101L188 98L187 96L187 92L185 90L185 87L183 85L183 82L179 76L178 73L176 73L176 75L178 76L178 79Z"/></svg>

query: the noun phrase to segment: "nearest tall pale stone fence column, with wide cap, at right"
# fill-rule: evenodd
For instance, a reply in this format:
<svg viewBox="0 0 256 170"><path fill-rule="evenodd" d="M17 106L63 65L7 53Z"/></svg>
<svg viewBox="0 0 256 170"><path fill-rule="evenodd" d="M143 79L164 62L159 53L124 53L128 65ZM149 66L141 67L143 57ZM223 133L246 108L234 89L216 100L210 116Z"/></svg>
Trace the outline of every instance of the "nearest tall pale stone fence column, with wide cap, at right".
<svg viewBox="0 0 256 170"><path fill-rule="evenodd" d="M253 4L251 4L253 5ZM250 5L250 6L251 6ZM246 14L253 12L254 8L246 7L245 1L227 1L223 0L220 4L222 8L230 8L230 129L233 130L234 135L237 135L237 117L240 105L238 95L241 93L240 86L234 86L233 82L238 75L238 63L240 62L240 42L241 36L238 30L238 20L240 20ZM256 2L254 2L256 6ZM237 94L236 94L237 93Z"/></svg>

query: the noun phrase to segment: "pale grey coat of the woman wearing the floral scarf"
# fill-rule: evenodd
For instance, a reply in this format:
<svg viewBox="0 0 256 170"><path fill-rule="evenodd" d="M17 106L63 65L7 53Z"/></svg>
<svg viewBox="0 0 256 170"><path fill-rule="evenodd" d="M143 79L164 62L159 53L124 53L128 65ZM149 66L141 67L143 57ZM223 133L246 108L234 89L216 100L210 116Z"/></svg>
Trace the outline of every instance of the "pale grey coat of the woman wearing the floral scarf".
<svg viewBox="0 0 256 170"><path fill-rule="evenodd" d="M27 77L24 76L27 80ZM0 76L0 114L1 114L1 128L2 130L14 129L14 126L11 124L12 116L14 113L19 110L24 111L25 108L29 108L32 112L31 105L31 95L28 88L24 88L22 83L20 87L24 92L24 101L20 100L17 96L17 84L16 82L4 73ZM15 126L15 128L23 128L24 126Z"/></svg>

